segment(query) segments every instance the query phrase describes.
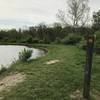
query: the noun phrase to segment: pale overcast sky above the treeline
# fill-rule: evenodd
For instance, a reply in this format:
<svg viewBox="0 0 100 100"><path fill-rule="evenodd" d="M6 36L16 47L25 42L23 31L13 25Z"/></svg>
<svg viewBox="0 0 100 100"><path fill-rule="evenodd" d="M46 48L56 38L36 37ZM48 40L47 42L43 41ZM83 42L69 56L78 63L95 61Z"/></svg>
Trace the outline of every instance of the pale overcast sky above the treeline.
<svg viewBox="0 0 100 100"><path fill-rule="evenodd" d="M90 0L89 5L96 11L100 0ZM57 21L58 9L66 7L66 0L0 0L0 28L51 24Z"/></svg>

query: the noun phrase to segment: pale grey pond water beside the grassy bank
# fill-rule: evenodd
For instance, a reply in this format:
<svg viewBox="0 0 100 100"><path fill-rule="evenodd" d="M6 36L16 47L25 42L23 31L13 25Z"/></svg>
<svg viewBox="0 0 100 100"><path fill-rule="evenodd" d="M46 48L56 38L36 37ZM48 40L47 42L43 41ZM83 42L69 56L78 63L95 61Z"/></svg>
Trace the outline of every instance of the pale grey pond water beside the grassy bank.
<svg viewBox="0 0 100 100"><path fill-rule="evenodd" d="M27 46L18 45L0 45L0 69L2 66L8 68L14 61L18 60L19 52L23 49L33 50L32 57L30 59L35 59L44 55L43 50L29 48Z"/></svg>

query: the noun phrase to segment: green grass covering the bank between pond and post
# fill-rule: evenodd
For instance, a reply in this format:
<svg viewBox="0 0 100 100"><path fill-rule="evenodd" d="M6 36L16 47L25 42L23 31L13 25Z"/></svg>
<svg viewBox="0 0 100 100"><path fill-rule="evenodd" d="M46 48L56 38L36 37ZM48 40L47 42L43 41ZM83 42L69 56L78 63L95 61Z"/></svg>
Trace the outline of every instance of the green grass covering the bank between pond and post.
<svg viewBox="0 0 100 100"><path fill-rule="evenodd" d="M39 45L41 46L41 45ZM48 53L29 62L17 62L1 78L12 72L24 72L27 79L11 91L0 93L3 100L71 100L74 91L83 88L85 52L75 46L42 45ZM46 65L49 60L60 62ZM100 91L100 57L94 56L92 91ZM94 100L94 99L93 99ZM95 99L96 100L96 99Z"/></svg>

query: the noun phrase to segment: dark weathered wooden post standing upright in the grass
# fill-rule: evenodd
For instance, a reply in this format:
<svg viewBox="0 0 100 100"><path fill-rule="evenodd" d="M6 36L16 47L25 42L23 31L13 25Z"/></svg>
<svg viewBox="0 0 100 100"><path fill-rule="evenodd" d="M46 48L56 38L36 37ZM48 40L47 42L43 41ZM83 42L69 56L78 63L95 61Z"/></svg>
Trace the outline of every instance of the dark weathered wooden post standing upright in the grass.
<svg viewBox="0 0 100 100"><path fill-rule="evenodd" d="M84 90L83 97L85 100L90 100L90 82L91 82L91 69L93 58L94 36L87 37L87 55L86 66L84 72Z"/></svg>

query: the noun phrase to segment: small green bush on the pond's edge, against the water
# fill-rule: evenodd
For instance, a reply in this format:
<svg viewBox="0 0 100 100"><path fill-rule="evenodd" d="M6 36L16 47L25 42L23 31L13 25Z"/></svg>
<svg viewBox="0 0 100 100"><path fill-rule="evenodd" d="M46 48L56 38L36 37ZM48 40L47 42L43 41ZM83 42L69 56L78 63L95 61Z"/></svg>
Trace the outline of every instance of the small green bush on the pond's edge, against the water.
<svg viewBox="0 0 100 100"><path fill-rule="evenodd" d="M32 56L32 50L22 50L19 52L19 60L20 61L27 61Z"/></svg>

